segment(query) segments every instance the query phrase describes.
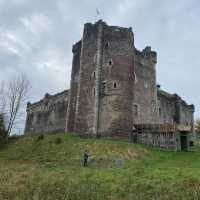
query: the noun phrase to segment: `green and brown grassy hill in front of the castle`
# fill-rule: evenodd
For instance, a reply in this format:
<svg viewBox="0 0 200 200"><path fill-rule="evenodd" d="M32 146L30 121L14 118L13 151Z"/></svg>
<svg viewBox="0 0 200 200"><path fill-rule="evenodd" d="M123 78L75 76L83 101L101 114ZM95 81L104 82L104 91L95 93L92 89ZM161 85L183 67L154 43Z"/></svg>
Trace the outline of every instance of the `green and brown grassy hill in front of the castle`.
<svg viewBox="0 0 200 200"><path fill-rule="evenodd" d="M200 199L200 148L161 151L64 134L13 138L0 147L0 199Z"/></svg>

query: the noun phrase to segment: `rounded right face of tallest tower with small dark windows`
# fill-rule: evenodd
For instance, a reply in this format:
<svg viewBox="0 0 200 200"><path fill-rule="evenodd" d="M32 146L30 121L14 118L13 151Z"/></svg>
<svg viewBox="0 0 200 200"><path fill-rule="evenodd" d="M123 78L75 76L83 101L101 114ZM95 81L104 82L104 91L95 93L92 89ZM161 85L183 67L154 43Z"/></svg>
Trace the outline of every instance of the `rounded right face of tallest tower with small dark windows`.
<svg viewBox="0 0 200 200"><path fill-rule="evenodd" d="M105 26L100 81L99 134L127 137L132 129L134 36L130 28Z"/></svg>

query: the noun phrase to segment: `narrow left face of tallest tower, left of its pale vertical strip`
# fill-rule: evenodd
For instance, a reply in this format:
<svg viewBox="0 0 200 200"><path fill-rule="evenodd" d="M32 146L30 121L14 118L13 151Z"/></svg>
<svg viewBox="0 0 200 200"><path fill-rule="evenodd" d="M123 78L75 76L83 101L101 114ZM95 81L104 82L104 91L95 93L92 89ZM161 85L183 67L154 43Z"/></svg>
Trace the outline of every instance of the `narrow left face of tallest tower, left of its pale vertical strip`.
<svg viewBox="0 0 200 200"><path fill-rule="evenodd" d="M100 37L99 24L92 25L88 23L84 25L73 128L74 132L80 134L95 134L97 94L97 73L95 70L97 67L97 49L99 48L98 37Z"/></svg>

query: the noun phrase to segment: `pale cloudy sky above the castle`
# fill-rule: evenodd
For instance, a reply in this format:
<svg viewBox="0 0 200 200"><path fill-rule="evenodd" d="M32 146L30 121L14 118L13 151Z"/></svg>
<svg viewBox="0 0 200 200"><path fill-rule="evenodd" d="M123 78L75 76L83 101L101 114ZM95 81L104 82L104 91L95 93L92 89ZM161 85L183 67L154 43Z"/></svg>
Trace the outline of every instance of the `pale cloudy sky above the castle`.
<svg viewBox="0 0 200 200"><path fill-rule="evenodd" d="M199 0L0 0L0 82L26 74L31 102L68 89L72 45L99 18L132 27L135 46L158 54L157 82L200 117Z"/></svg>

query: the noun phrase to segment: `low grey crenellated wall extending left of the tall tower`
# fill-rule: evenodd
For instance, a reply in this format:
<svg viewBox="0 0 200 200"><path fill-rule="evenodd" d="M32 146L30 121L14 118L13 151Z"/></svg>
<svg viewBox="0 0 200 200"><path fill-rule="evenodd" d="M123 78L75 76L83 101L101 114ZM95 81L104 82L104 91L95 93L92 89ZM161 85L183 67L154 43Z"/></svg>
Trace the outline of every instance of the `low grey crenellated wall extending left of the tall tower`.
<svg viewBox="0 0 200 200"><path fill-rule="evenodd" d="M27 104L25 134L64 132L68 91L46 94L37 103Z"/></svg>

